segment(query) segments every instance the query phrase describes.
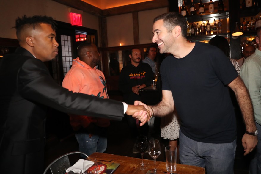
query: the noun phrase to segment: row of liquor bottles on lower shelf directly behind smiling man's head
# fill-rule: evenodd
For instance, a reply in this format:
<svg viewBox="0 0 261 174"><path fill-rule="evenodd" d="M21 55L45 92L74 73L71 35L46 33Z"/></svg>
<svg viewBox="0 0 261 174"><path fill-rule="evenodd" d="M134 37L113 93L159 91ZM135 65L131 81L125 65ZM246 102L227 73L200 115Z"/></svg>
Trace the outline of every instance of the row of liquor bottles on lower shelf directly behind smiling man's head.
<svg viewBox="0 0 261 174"><path fill-rule="evenodd" d="M216 23L216 20L214 19L212 25L209 23L209 20L207 20L207 24L205 25L203 19L200 26L199 23L196 23L196 26L194 26L193 22L190 26L187 21L187 36L212 35L217 33L222 33L222 23L220 18L218 18L218 23Z"/></svg>

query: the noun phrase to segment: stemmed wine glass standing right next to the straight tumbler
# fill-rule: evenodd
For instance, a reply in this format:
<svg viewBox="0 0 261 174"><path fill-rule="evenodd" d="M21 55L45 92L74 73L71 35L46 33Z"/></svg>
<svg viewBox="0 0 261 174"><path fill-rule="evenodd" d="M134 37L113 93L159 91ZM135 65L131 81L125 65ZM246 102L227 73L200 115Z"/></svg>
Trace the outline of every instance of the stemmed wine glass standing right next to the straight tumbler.
<svg viewBox="0 0 261 174"><path fill-rule="evenodd" d="M154 171L156 172L156 158L161 154L161 145L158 139L151 139L149 141L149 155L154 159Z"/></svg>

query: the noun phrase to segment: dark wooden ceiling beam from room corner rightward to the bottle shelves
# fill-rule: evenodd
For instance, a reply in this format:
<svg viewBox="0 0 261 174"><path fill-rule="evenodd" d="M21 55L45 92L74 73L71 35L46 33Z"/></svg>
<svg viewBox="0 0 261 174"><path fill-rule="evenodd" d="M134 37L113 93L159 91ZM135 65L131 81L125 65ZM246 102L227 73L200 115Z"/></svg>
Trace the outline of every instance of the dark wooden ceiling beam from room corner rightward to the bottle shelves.
<svg viewBox="0 0 261 174"><path fill-rule="evenodd" d="M103 10L103 16L120 15L131 12L139 12L144 10L152 10L163 7L169 7L168 0L154 0L141 2L137 4L124 5L120 7L108 8Z"/></svg>

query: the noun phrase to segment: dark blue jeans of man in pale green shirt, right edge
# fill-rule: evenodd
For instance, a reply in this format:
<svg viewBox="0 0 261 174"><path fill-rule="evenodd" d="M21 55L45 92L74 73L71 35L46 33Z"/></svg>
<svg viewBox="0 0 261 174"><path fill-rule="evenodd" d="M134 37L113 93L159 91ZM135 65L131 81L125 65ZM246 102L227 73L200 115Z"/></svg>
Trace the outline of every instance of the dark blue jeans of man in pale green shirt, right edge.
<svg viewBox="0 0 261 174"><path fill-rule="evenodd" d="M250 153L255 153L254 154L254 159L251 160L250 165L249 165L249 173L250 174L260 174L261 173L261 125L257 124L257 147L255 148L254 151Z"/></svg>

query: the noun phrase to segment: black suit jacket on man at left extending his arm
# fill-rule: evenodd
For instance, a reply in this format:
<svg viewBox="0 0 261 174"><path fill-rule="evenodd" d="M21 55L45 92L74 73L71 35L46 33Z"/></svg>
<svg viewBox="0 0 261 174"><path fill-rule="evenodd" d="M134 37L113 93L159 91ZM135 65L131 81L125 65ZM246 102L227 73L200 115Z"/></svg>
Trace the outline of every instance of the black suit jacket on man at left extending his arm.
<svg viewBox="0 0 261 174"><path fill-rule="evenodd" d="M2 58L0 81L2 173L43 172L47 107L114 120L123 117L122 102L68 91L52 79L41 60L21 47Z"/></svg>

